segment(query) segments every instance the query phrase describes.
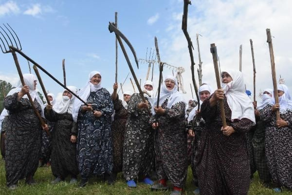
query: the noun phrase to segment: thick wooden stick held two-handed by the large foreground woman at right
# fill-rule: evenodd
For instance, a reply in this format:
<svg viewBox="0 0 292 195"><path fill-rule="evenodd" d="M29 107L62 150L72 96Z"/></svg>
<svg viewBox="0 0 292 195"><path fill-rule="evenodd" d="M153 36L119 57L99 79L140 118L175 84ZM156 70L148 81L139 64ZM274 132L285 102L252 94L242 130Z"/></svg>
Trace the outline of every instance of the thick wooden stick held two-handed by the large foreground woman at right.
<svg viewBox="0 0 292 195"><path fill-rule="evenodd" d="M215 46L215 43L211 44L210 50L213 56L213 64L214 64L214 70L215 70L215 75L216 75L217 88L221 89L220 74L219 74L218 62L217 62L217 48ZM223 127L226 127L226 118L225 118L223 100L219 100L219 104L220 104L222 125Z"/></svg>

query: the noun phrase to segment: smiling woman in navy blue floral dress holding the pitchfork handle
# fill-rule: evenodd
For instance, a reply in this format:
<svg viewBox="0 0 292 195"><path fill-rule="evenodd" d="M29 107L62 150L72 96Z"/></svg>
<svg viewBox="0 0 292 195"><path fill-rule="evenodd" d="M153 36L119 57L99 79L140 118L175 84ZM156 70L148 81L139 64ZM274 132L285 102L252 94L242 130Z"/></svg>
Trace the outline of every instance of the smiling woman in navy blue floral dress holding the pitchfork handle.
<svg viewBox="0 0 292 195"><path fill-rule="evenodd" d="M111 115L113 104L109 91L101 86L101 73L91 71L87 85L78 92L87 102L76 100L73 120L77 122L77 164L81 175L80 187L85 187L89 177L104 175L113 184Z"/></svg>

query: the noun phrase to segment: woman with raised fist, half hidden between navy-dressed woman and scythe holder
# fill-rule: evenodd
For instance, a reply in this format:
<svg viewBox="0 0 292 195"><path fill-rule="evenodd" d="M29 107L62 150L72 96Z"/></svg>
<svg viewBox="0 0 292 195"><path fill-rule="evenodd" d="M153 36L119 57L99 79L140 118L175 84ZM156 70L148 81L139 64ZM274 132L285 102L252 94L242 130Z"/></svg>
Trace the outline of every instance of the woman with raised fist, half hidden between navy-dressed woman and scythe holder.
<svg viewBox="0 0 292 195"><path fill-rule="evenodd" d="M131 98L132 92L125 91L123 94L123 101L119 99L117 94L118 84L113 84L113 93L111 95L114 119L111 124L112 143L113 143L113 170L112 179L115 180L117 173L123 171L123 144L125 136L126 122L128 118L128 102Z"/></svg>

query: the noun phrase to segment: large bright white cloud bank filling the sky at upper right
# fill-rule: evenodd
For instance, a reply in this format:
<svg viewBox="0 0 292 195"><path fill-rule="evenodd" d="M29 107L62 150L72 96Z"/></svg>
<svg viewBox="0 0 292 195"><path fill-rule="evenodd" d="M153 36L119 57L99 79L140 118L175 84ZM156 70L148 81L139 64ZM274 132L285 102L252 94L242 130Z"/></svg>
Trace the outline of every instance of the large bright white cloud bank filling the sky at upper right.
<svg viewBox="0 0 292 195"><path fill-rule="evenodd" d="M183 2L181 2L183 4ZM183 6L181 6L183 7ZM210 44L216 43L220 57L221 70L239 69L239 45L242 44L242 72L247 89L253 92L253 64L249 39L253 39L256 61L256 94L260 89L273 88L269 47L266 43L266 28L274 36L274 55L277 80L281 74L288 87L292 88L291 53L288 45L292 44L291 0L198 0L192 1L188 13L188 33L194 45L195 69L198 68L198 50L196 33L199 37L202 64L202 80L216 87ZM184 87L191 97L189 84L190 57L187 42L181 30L183 10L173 13L171 22L166 28L164 45L166 51L163 59L167 63L182 66ZM179 17L180 16L180 17ZM170 30L171 29L171 30ZM166 38L167 37L167 38ZM198 81L197 70L195 78Z"/></svg>

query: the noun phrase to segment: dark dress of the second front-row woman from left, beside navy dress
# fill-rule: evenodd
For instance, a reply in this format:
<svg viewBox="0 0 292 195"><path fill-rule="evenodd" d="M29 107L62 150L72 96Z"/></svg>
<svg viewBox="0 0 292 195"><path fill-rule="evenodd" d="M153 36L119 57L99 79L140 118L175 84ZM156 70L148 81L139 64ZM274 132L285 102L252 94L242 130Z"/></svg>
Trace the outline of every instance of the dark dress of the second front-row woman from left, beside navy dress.
<svg viewBox="0 0 292 195"><path fill-rule="evenodd" d="M45 116L54 122L52 132L51 166L55 177L65 179L68 175L78 175L76 161L76 143L72 143L71 135L77 136L77 125L73 122L72 114L58 114L53 109L45 108Z"/></svg>

